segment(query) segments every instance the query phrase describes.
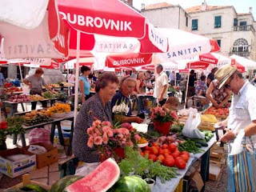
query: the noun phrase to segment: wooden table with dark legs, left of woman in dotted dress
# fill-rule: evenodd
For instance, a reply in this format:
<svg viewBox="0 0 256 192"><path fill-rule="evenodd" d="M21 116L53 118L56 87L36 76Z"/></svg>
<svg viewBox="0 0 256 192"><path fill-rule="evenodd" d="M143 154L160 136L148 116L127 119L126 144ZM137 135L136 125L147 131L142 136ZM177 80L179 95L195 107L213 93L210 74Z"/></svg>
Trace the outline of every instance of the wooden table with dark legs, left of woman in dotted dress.
<svg viewBox="0 0 256 192"><path fill-rule="evenodd" d="M25 113L20 113L20 115L25 114ZM64 146L64 138L62 135L62 126L61 126L61 122L65 121L65 120L70 120L71 121L71 130L70 130L70 144L67 150L67 154L70 154L71 149L72 149L72 140L73 140L73 134L74 134L74 111L70 111L69 113L66 113L65 116L63 116L62 118L53 118L52 121L50 122L42 122L39 124L35 124L32 126L25 126L23 125L22 127L25 130L31 130L34 128L40 128L40 127L44 127L46 125L50 125L51 124L51 129L50 129L50 142L54 143L54 132L57 126L58 129L58 138L59 141L61 143L62 146ZM25 135L21 134L21 139L22 139L22 146L26 146L26 140L25 140ZM17 135L14 135L14 145L17 144Z"/></svg>

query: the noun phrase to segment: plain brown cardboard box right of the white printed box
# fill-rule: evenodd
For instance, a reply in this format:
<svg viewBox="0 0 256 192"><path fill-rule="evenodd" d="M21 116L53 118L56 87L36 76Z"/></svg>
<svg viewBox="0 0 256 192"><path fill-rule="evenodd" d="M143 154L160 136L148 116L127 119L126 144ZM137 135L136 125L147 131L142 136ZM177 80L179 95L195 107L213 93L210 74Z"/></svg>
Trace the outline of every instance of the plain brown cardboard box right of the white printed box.
<svg viewBox="0 0 256 192"><path fill-rule="evenodd" d="M44 154L36 154L37 157L37 168L41 169L42 167L49 166L54 162L58 162L58 149L55 146L46 144L46 143L35 143L33 145L43 146L48 152ZM26 146L28 149L29 146Z"/></svg>

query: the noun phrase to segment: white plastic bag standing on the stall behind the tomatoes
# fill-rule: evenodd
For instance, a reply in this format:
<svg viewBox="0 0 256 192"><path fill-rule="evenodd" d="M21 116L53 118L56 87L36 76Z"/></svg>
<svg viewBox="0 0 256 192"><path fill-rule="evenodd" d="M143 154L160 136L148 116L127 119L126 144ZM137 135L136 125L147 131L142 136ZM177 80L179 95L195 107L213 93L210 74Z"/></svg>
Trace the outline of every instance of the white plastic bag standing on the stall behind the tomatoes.
<svg viewBox="0 0 256 192"><path fill-rule="evenodd" d="M201 115L196 114L193 118L193 113L190 112L189 118L183 127L182 134L188 138L205 138L205 134L198 130L198 126L201 122Z"/></svg>

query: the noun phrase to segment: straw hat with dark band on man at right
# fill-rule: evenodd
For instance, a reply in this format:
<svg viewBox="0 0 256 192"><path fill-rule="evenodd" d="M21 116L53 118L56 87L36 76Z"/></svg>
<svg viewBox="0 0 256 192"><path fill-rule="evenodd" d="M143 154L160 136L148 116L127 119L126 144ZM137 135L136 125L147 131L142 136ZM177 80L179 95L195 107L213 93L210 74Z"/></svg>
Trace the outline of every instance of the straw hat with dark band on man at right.
<svg viewBox="0 0 256 192"><path fill-rule="evenodd" d="M215 75L215 78L217 78L218 80L218 89L221 89L222 86L225 85L226 80L228 80L236 70L237 70L236 66L233 67L230 65L226 65L226 66L222 66L216 71L214 75Z"/></svg>

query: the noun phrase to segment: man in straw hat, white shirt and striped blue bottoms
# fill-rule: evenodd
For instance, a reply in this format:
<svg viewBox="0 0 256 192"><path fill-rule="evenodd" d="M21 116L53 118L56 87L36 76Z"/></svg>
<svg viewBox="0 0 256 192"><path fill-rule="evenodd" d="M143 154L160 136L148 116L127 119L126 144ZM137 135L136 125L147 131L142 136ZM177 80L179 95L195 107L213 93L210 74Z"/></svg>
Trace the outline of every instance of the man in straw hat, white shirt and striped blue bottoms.
<svg viewBox="0 0 256 192"><path fill-rule="evenodd" d="M229 144L228 191L256 190L256 87L242 78L236 67L222 66L215 73L219 86L234 93L230 115L219 126L226 126L221 142ZM256 145L255 145L256 147ZM250 151L250 153L246 153Z"/></svg>

